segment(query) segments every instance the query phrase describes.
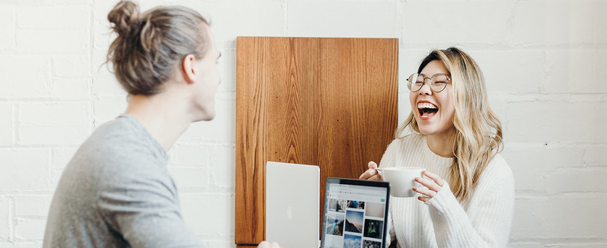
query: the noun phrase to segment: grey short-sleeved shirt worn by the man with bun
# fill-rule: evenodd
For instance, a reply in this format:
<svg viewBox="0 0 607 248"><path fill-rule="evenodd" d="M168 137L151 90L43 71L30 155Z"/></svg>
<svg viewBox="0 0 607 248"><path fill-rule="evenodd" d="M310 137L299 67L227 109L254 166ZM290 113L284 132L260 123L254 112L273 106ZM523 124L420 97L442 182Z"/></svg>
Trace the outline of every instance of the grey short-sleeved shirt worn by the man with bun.
<svg viewBox="0 0 607 248"><path fill-rule="evenodd" d="M95 130L63 171L43 247L206 247L181 218L168 156L131 115Z"/></svg>

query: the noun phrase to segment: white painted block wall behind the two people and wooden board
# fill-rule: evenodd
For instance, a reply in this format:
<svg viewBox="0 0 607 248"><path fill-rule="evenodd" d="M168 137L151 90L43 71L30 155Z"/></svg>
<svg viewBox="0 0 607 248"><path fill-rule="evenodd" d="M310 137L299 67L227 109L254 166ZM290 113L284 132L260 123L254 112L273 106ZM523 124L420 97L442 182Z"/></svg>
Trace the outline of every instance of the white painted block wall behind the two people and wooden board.
<svg viewBox="0 0 607 248"><path fill-rule="evenodd" d="M0 247L39 247L53 189L126 106L100 67L115 1L0 1ZM171 150L189 226L234 247L236 36L399 38L401 82L432 48L483 69L515 173L511 247L607 246L607 1L144 1L212 17L219 114ZM401 83L401 120L409 112ZM364 165L359 165L364 166Z"/></svg>

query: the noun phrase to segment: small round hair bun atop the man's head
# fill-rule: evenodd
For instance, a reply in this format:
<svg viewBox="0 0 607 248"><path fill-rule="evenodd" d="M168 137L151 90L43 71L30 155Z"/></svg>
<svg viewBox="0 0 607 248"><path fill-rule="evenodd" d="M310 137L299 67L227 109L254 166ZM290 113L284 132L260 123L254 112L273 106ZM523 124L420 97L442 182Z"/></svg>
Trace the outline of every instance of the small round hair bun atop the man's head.
<svg viewBox="0 0 607 248"><path fill-rule="evenodd" d="M139 6L131 1L120 1L107 14L107 20L114 23L114 32L120 36L128 36L140 22Z"/></svg>

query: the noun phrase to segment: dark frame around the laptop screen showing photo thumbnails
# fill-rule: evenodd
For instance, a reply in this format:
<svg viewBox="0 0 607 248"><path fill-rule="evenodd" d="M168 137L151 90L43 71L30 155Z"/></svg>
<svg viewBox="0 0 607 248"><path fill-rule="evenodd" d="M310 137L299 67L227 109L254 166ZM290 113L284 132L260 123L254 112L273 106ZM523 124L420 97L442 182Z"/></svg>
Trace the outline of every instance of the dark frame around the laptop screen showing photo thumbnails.
<svg viewBox="0 0 607 248"><path fill-rule="evenodd" d="M390 183L384 181L370 181L370 180L361 180L361 179L347 179L347 178L338 178L338 177L327 177L327 181L325 183L325 204L324 209L322 209L322 228L320 229L321 238L320 238L320 248L325 247L325 239L327 238L327 215L328 215L328 201L329 201L329 186L331 184L346 184L346 185L359 185L359 186L369 186L369 187L379 187L386 188L386 196L385 196L385 209L384 209L384 228L382 229L382 248L386 248L386 240L387 240L387 229L388 229L388 210L390 208Z"/></svg>

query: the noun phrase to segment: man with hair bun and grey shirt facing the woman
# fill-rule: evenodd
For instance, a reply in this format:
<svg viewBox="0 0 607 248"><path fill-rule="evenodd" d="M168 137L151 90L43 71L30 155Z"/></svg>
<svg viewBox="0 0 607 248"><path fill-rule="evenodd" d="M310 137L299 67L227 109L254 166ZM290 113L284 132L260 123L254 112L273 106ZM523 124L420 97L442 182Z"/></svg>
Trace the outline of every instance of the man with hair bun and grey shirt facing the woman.
<svg viewBox="0 0 607 248"><path fill-rule="evenodd" d="M166 151L190 123L215 117L214 35L199 13L181 6L140 13L121 1L107 19L118 35L107 62L128 106L67 164L42 247L206 247L181 218Z"/></svg>

